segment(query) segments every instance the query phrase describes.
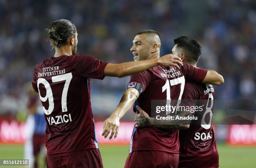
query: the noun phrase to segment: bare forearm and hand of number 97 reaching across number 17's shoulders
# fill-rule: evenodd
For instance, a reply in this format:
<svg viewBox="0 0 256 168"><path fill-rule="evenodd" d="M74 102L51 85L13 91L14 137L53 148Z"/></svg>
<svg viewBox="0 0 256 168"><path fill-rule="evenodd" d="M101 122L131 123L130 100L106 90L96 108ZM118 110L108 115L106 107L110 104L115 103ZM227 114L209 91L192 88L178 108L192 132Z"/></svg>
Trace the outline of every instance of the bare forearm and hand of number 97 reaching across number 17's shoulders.
<svg viewBox="0 0 256 168"><path fill-rule="evenodd" d="M179 68L179 66L182 66L183 64L182 60L178 56L168 54L159 58L153 58L149 60L132 61L120 64L108 63L108 65L105 67L104 75L122 78L124 76L140 73L144 70L148 70L158 65L175 66Z"/></svg>

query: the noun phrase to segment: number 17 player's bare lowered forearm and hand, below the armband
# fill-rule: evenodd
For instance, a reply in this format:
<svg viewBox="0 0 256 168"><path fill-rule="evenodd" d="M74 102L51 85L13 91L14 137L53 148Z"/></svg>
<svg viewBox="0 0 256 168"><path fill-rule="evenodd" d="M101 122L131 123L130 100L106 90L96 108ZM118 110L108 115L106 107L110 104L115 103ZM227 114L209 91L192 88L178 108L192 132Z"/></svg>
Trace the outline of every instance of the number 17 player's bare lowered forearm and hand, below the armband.
<svg viewBox="0 0 256 168"><path fill-rule="evenodd" d="M125 115L125 113L131 108L138 97L139 92L134 88L128 88L125 91L115 111L110 115L109 118L104 121L102 132L102 136L104 136L104 138L107 138L111 130L112 132L109 136L109 139L111 139L113 135L115 135L114 138L117 137L120 118Z"/></svg>

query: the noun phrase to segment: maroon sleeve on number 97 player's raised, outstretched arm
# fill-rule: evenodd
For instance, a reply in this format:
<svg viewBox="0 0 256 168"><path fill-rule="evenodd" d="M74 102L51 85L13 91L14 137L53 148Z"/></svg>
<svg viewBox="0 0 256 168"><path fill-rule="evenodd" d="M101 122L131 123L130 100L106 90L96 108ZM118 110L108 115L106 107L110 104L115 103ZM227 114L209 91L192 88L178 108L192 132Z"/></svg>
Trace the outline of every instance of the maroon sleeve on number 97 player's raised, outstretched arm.
<svg viewBox="0 0 256 168"><path fill-rule="evenodd" d="M103 79L104 70L108 63L86 55L73 55L73 67L82 76L87 78Z"/></svg>

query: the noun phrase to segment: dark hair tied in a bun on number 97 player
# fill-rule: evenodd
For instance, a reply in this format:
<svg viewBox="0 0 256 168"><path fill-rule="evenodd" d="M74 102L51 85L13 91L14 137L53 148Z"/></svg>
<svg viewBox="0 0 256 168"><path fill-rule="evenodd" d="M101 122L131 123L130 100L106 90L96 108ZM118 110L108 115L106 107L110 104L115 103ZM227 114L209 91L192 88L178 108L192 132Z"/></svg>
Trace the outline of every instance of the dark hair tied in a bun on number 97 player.
<svg viewBox="0 0 256 168"><path fill-rule="evenodd" d="M75 35L77 29L70 20L56 20L51 23L49 29L46 28L52 48L66 45L70 36Z"/></svg>

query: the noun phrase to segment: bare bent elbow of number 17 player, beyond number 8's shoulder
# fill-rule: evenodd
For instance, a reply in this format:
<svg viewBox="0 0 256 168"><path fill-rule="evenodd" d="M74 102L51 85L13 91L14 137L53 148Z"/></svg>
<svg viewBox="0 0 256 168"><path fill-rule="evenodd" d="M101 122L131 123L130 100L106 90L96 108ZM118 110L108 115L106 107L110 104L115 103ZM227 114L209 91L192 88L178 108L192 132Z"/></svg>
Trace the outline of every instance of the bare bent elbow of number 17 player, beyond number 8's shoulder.
<svg viewBox="0 0 256 168"><path fill-rule="evenodd" d="M207 74L202 83L221 85L224 83L222 75L218 74L215 70L207 70Z"/></svg>

